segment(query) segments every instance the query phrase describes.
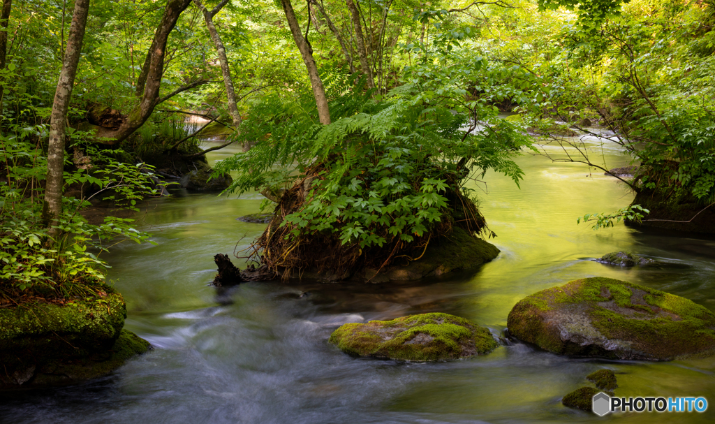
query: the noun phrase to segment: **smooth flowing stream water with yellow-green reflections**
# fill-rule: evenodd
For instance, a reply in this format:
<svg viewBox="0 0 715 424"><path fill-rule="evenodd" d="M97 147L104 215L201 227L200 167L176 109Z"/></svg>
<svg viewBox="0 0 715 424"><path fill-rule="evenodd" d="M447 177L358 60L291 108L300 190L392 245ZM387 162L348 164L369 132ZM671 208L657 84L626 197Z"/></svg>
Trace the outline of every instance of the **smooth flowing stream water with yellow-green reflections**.
<svg viewBox="0 0 715 424"><path fill-rule="evenodd" d="M588 142L598 147L598 140ZM238 149L235 149L237 151ZM596 149L609 167L628 159ZM561 157L556 147L548 151ZM209 161L226 157L215 152ZM585 376L608 368L619 396L704 396L715 403L715 358L671 363L566 358L514 343L449 363L356 359L327 343L345 322L448 312L506 328L526 295L605 276L688 297L715 310L715 242L616 225L576 225L631 202L621 184L582 164L524 154L521 189L487 174L475 184L501 254L478 272L389 285L249 282L217 295L216 253L249 245L264 225L236 220L261 197L185 194L159 199L143 220L158 246L124 244L106 259L127 300L126 328L154 350L85 385L3 394L2 423L713 423L705 413L596 415L561 405ZM594 262L631 250L663 265ZM237 262L237 261L235 261ZM302 297L301 297L302 294Z"/></svg>

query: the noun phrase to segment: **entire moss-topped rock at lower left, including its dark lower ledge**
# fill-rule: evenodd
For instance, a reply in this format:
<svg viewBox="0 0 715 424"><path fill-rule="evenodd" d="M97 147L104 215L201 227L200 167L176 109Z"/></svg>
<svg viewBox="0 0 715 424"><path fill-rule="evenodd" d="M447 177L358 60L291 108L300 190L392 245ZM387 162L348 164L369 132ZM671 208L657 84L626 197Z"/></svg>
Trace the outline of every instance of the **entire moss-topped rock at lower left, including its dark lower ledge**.
<svg viewBox="0 0 715 424"><path fill-rule="evenodd" d="M122 330L122 295L102 290L94 300L0 308L0 390L80 383L146 352L149 342Z"/></svg>

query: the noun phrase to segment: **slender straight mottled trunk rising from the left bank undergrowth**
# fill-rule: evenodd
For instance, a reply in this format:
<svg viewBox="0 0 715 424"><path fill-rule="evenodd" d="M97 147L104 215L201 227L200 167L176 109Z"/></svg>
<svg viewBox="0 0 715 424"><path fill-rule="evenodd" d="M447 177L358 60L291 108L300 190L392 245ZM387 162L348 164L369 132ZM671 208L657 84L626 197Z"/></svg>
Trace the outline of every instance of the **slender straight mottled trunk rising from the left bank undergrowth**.
<svg viewBox="0 0 715 424"><path fill-rule="evenodd" d="M69 27L67 48L64 51L62 70L59 73L57 89L54 93L52 113L49 124L49 149L47 152L47 179L45 188L43 217L49 227L57 225L62 212L62 186L64 185L64 137L67 122L67 109L74 86L74 76L77 74L79 54L82 53L84 29L87 26L89 0L74 2L72 23ZM59 230L51 228L51 237L59 234Z"/></svg>

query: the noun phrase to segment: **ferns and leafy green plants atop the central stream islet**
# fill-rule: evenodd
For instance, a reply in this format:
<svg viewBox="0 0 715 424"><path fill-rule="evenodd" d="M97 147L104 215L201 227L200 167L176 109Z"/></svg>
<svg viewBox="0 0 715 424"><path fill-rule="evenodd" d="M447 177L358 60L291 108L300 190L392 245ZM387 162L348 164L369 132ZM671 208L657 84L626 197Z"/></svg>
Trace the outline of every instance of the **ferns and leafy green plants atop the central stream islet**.
<svg viewBox="0 0 715 424"><path fill-rule="evenodd" d="M307 90L294 102L256 104L253 131L242 135L259 141L216 172L240 172L230 190L245 192L290 184L297 164L310 197L285 217L296 238L332 233L342 245L363 249L425 237L448 224L449 197L456 201L468 179L494 169L518 183L523 172L511 158L531 142L489 102L520 94L493 87L501 69L481 58L450 66L430 60L443 58L447 44L438 38L434 49L420 52L428 57L405 72L404 84L376 100L363 81L340 84L327 75L333 119L327 126L313 122Z"/></svg>

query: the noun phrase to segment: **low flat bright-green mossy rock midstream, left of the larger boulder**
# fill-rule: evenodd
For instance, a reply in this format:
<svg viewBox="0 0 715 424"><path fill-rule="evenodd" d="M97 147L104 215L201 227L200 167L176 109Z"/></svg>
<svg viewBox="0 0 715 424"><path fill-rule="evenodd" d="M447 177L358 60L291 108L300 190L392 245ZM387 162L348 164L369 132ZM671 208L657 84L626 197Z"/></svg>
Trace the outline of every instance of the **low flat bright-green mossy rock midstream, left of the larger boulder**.
<svg viewBox="0 0 715 424"><path fill-rule="evenodd" d="M497 347L485 327L444 313L342 325L330 342L360 357L436 361L485 355Z"/></svg>

